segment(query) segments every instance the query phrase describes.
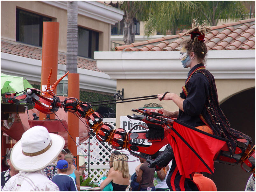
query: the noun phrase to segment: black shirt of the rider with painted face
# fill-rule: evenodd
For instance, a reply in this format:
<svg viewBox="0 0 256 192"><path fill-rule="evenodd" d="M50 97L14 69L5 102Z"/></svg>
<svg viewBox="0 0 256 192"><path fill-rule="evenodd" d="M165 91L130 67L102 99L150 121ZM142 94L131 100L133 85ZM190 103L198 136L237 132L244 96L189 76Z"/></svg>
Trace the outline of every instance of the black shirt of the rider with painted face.
<svg viewBox="0 0 256 192"><path fill-rule="evenodd" d="M202 66L204 65L197 64L192 67L188 72L188 77L196 68ZM199 118L199 115L202 113L207 95L209 95L209 81L207 77L203 73L194 73L187 82L186 89L188 91L187 97L183 92L180 93L180 97L185 100L183 102L184 112L179 111L178 120L193 127L205 125Z"/></svg>

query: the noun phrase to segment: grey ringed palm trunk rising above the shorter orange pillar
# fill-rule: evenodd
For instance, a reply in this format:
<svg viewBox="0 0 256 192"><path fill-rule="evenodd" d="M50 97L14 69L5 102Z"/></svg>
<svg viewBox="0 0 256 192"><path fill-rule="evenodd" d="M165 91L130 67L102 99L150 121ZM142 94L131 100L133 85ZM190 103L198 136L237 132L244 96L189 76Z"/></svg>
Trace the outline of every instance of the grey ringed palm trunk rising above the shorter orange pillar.
<svg viewBox="0 0 256 192"><path fill-rule="evenodd" d="M67 71L77 73L77 1L68 1Z"/></svg>

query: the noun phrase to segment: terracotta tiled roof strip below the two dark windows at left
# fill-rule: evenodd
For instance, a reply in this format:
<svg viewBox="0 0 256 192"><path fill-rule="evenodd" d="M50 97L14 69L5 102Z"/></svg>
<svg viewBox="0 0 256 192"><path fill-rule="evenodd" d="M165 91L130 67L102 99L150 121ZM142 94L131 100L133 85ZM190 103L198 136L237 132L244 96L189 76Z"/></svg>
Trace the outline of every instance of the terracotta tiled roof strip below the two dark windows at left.
<svg viewBox="0 0 256 192"><path fill-rule="evenodd" d="M9 42L1 39L1 52L21 57L42 60L42 48L18 42ZM59 52L58 64L66 65L66 54ZM102 72L97 68L96 60L77 57L77 67Z"/></svg>

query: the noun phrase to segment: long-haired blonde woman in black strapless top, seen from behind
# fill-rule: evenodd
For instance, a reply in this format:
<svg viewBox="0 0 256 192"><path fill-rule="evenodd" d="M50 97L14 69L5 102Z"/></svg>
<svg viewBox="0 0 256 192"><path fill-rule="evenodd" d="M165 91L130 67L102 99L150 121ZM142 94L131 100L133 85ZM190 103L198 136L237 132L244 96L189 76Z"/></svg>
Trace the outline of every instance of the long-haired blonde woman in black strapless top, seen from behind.
<svg viewBox="0 0 256 192"><path fill-rule="evenodd" d="M119 154L114 157L113 171L101 183L100 188L103 190L110 182L113 191L125 191L129 185L130 175L126 155Z"/></svg>

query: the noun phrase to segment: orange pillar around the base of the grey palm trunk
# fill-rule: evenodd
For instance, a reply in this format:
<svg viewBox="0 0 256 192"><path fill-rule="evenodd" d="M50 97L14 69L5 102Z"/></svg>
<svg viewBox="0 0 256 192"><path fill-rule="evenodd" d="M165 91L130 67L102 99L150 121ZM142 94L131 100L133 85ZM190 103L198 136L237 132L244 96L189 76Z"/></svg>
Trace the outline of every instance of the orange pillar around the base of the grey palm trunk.
<svg viewBox="0 0 256 192"><path fill-rule="evenodd" d="M75 97L79 100L79 73L68 73L68 97ZM68 112L68 132L77 142L79 138L79 119L73 113ZM73 139L68 135L68 149L76 156L76 166L79 166L79 156L77 146ZM79 145L79 143L77 143Z"/></svg>

